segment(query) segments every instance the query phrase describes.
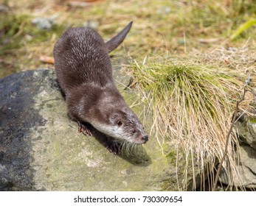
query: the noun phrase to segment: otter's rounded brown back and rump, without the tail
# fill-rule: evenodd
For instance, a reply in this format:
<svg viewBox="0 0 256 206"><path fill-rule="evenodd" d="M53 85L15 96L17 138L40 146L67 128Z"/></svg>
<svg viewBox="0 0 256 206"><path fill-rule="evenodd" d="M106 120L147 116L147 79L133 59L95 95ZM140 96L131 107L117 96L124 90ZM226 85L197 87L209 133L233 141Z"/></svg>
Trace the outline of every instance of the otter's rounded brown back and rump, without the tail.
<svg viewBox="0 0 256 206"><path fill-rule="evenodd" d="M103 38L89 27L66 30L54 48L55 70L64 90L85 82L112 81L111 61Z"/></svg>

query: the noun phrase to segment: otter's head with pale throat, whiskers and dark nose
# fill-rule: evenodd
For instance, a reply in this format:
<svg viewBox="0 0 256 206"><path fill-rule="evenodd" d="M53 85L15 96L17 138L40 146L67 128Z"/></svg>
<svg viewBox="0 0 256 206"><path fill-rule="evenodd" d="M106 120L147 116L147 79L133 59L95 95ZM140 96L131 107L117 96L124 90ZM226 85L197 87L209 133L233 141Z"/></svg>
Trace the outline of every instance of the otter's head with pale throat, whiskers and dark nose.
<svg viewBox="0 0 256 206"><path fill-rule="evenodd" d="M145 132L139 118L129 107L121 109L114 107L104 113L104 122L98 124L92 122L92 125L100 132L131 143L142 144L148 141L148 135Z"/></svg>

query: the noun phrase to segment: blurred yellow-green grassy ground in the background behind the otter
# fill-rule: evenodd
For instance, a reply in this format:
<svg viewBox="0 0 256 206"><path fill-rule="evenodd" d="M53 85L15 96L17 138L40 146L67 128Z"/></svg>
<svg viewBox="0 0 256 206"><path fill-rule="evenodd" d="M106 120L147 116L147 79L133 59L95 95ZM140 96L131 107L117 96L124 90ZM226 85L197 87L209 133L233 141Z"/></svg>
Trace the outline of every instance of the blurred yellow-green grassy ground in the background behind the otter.
<svg viewBox="0 0 256 206"><path fill-rule="evenodd" d="M49 67L42 55L52 56L52 48L69 26L94 24L105 40L129 21L133 29L114 54L127 52L131 57L148 54L191 52L216 46L239 47L255 40L256 9L253 0L225 1L93 1L75 7L66 1L5 0L0 11L0 77L15 71ZM56 16L52 29L41 30L31 23L36 17ZM247 26L239 26L247 23ZM238 32L236 32L238 31ZM235 34L235 41L225 40ZM13 59L15 61L13 61Z"/></svg>

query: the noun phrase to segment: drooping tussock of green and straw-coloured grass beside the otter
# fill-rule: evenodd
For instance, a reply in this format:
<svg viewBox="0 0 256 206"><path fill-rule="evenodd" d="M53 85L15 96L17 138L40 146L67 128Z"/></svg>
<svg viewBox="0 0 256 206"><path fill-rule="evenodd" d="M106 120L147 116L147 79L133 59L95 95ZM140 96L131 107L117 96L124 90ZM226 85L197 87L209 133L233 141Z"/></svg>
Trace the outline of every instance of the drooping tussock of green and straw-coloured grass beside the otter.
<svg viewBox="0 0 256 206"><path fill-rule="evenodd" d="M246 56L247 61L243 61L246 49L233 50L194 53L196 57L190 60L187 57L150 57L141 63L136 60L131 63L134 83L144 94L148 110L153 113L151 134L174 143L177 157L183 154L186 164L184 179L179 180L183 182L182 190L187 188L190 172L193 174L193 189L196 189L197 173L201 175L203 190L207 178L204 175L214 179L215 164L223 157L235 103L241 98L244 82L248 79L246 71L255 72L254 57L249 65L249 58L253 55ZM249 113L252 102L252 96L247 96L240 109ZM231 185L234 178L238 182L240 180L236 169L239 163L238 145L234 130L223 165L230 174ZM177 159L178 167L180 162ZM239 183L242 185L242 182Z"/></svg>

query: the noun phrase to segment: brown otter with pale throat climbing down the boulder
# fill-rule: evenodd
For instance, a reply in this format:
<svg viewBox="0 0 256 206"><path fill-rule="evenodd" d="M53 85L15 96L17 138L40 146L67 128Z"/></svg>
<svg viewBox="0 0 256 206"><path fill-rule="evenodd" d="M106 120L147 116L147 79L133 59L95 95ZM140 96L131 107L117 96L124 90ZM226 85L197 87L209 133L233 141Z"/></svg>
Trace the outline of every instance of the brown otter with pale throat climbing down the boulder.
<svg viewBox="0 0 256 206"><path fill-rule="evenodd" d="M91 135L90 125L105 134L108 150L118 154L122 141L142 144L148 135L136 114L114 85L108 55L122 43L131 29L104 42L90 27L69 28L54 46L55 71L66 97L70 118L79 132Z"/></svg>

